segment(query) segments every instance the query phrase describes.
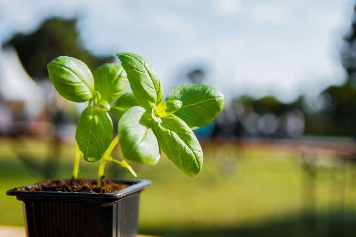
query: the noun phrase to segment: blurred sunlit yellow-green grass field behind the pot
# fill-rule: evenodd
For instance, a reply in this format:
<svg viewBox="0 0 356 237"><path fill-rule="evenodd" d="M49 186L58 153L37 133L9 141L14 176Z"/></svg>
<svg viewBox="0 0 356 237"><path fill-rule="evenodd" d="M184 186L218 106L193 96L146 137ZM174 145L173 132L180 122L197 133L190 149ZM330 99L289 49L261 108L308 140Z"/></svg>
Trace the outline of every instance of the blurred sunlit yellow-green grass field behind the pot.
<svg viewBox="0 0 356 237"><path fill-rule="evenodd" d="M329 165L318 167L314 210L308 207L312 196L305 193L313 179L302 168L298 152L258 144L203 142L202 147L203 169L194 178L186 176L164 155L155 166L132 164L138 178L152 181L141 195L141 233L265 236L284 230L291 233L288 236L303 236L303 231L315 231L324 236L334 228L328 225L329 222L335 224L335 228L338 228L338 223L344 223L346 227L348 222L355 225L354 165L347 165L345 172ZM48 175L53 178L70 177L74 145L62 144L56 152L50 152L53 150L56 149L46 141L0 139L0 225L23 225L21 204L14 196L6 196L6 190L45 179L41 172L29 168L19 156L31 158L41 165L48 157L52 160L58 157L58 164L54 165L58 167L57 172L49 172ZM121 159L118 149L114 156ZM98 162L81 160L79 176L95 178L98 166ZM106 177L130 178L130 174L110 163ZM344 180L345 203L340 205L343 193L340 183ZM340 215L342 207L346 210L343 216ZM310 215L313 211L315 218ZM305 227L308 218L315 225ZM346 227L345 231L348 231Z"/></svg>

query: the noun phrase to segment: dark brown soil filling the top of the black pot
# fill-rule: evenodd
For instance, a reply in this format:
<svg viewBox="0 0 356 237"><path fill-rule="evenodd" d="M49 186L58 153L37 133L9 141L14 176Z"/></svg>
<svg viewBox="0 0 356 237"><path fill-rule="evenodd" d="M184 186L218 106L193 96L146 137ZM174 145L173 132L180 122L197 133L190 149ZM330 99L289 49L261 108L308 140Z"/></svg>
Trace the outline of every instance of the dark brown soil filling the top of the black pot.
<svg viewBox="0 0 356 237"><path fill-rule="evenodd" d="M79 193L115 193L121 189L129 187L127 183L115 183L111 180L104 179L101 188L96 187L96 180L94 179L48 179L44 182L38 182L31 185L30 188L20 187L14 188L12 191L21 192L40 192L40 191L54 191L54 192L79 192Z"/></svg>

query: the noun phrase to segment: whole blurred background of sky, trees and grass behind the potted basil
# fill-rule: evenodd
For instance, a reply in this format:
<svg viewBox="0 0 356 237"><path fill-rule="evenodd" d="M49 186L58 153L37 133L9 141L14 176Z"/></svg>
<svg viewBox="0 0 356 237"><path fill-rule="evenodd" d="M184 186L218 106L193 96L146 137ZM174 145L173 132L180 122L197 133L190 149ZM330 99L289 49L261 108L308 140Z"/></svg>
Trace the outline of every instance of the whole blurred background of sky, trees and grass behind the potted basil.
<svg viewBox="0 0 356 237"><path fill-rule="evenodd" d="M132 164L153 182L140 233L355 236L355 4L0 0L0 225L23 225L6 190L71 175L86 104L59 96L46 64L68 55L94 70L133 52L155 66L165 93L204 83L226 97L195 131L198 176L164 154L155 166ZM97 168L82 160L79 176ZM131 178L115 164L106 177Z"/></svg>

